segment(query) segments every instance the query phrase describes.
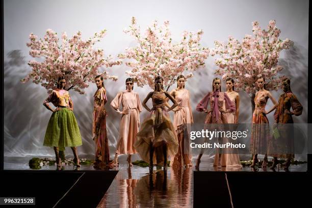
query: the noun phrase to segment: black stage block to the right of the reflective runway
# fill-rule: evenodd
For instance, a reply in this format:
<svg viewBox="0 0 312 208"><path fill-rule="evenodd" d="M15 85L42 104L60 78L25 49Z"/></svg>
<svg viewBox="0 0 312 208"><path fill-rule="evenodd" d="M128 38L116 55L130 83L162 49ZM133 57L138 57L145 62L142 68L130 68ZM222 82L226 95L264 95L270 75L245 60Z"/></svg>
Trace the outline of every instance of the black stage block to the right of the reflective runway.
<svg viewBox="0 0 312 208"><path fill-rule="evenodd" d="M309 204L308 172L194 171L193 174L194 207L305 207Z"/></svg>

